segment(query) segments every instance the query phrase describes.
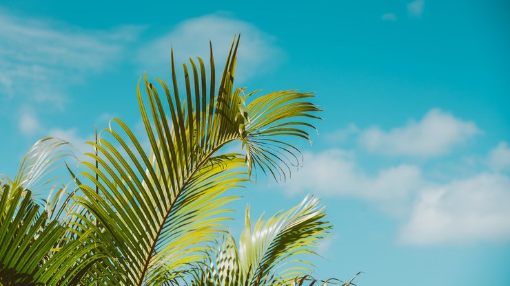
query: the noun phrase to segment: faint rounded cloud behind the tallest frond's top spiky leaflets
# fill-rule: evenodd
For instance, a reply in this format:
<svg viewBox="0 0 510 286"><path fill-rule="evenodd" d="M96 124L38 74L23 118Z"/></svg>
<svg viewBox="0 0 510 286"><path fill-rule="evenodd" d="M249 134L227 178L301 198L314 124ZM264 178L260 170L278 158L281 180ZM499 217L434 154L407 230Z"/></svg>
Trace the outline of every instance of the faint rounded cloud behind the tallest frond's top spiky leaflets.
<svg viewBox="0 0 510 286"><path fill-rule="evenodd" d="M217 72L218 76L221 76L220 72L223 72L225 58L234 35L239 33L241 33L241 43L237 57L237 80L243 81L260 72L265 72L281 60L283 52L274 45L273 36L259 30L251 23L210 14L183 21L168 34L143 47L139 53L139 64L143 69L159 73L159 76L163 73L167 74L170 70L170 47L173 45L176 69L181 69L181 63L188 64L188 58L196 58L196 56L203 58L207 65L211 40L214 63L216 68L220 69Z"/></svg>

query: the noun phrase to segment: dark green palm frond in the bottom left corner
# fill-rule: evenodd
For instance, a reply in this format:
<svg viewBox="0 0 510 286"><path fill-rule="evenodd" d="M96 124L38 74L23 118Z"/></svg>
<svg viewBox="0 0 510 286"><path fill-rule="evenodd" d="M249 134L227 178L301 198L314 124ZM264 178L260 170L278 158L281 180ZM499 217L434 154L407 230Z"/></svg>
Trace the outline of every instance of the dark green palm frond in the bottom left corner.
<svg viewBox="0 0 510 286"><path fill-rule="evenodd" d="M86 234L63 239L65 227L48 220L32 201L30 190L3 186L0 197L0 283L2 285L66 285L79 280L99 256Z"/></svg>

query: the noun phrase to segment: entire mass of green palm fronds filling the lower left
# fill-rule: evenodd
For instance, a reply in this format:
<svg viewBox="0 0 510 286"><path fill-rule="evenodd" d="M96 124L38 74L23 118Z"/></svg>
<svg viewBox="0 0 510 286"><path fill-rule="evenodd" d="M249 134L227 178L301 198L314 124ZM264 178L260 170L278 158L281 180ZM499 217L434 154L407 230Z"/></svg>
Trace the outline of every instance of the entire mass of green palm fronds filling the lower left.
<svg viewBox="0 0 510 286"><path fill-rule="evenodd" d="M50 177L68 155L61 140L41 140L13 180L2 177L0 284L303 285L310 265L298 258L330 228L318 199L261 217L253 230L247 209L236 245L223 225L236 197L224 193L256 170L286 179L300 161L289 138L310 140L319 109L309 93L234 89L237 48L238 39L219 80L212 47L208 72L201 58L183 65L183 90L173 53L171 88L144 75L137 97L145 135L112 119L88 142L95 152L79 171L67 168L71 191ZM243 154L225 153L234 141ZM50 197L37 201L32 192L48 186Z"/></svg>

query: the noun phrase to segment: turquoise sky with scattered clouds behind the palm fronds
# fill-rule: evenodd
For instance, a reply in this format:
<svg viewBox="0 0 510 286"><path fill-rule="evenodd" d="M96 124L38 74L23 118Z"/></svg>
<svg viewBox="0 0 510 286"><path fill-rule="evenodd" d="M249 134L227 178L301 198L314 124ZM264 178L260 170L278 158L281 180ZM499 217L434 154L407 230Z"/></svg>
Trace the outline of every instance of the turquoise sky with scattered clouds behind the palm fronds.
<svg viewBox="0 0 510 286"><path fill-rule="evenodd" d="M215 3L214 3L215 2ZM252 216L318 195L334 225L316 278L357 285L510 285L507 1L0 1L0 173L54 136L81 144L121 118L136 82L225 58L236 86L314 91L323 120L302 168L259 179Z"/></svg>

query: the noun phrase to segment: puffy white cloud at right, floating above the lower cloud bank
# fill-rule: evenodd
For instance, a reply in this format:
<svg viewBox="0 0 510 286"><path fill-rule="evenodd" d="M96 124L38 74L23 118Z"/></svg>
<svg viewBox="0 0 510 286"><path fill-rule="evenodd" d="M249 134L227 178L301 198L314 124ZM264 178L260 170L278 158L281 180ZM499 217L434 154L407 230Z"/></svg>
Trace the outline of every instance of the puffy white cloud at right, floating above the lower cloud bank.
<svg viewBox="0 0 510 286"><path fill-rule="evenodd" d="M372 127L363 131L358 140L371 153L430 157L444 155L479 133L473 122L431 109L420 122L409 120L391 131Z"/></svg>

